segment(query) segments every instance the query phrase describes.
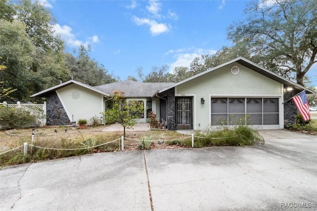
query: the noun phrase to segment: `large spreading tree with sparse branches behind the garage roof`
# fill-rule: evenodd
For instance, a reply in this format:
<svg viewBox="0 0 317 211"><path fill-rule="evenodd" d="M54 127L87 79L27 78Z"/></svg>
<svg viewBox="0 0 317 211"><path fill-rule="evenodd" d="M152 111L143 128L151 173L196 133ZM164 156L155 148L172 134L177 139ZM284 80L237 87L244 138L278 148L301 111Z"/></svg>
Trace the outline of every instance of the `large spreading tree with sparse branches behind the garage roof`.
<svg viewBox="0 0 317 211"><path fill-rule="evenodd" d="M317 62L317 4L315 0L255 0L247 18L229 26L228 38L245 46L252 60L283 76L305 74Z"/></svg>

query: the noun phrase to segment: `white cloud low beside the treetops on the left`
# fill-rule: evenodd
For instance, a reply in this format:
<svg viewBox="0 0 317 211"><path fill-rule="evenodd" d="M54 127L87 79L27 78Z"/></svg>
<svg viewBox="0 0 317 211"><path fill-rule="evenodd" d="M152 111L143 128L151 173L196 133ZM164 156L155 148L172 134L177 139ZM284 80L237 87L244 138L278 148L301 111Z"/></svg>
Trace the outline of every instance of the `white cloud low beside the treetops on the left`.
<svg viewBox="0 0 317 211"><path fill-rule="evenodd" d="M67 25L60 26L59 24L55 24L53 26L55 34L60 35L60 37L65 41L66 45L71 47L79 47L81 45L88 46L92 43L99 43L99 38L97 35L92 37L88 37L86 41L81 41L76 38L76 35L72 33L72 28Z"/></svg>

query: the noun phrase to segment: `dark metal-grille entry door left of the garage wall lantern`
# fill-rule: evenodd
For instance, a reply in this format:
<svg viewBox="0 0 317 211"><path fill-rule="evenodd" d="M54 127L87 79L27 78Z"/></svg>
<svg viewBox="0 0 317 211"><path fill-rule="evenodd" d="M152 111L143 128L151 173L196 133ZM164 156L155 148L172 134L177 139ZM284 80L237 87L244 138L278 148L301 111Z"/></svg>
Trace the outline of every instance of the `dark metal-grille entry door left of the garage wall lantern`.
<svg viewBox="0 0 317 211"><path fill-rule="evenodd" d="M176 98L176 130L193 129L193 98Z"/></svg>

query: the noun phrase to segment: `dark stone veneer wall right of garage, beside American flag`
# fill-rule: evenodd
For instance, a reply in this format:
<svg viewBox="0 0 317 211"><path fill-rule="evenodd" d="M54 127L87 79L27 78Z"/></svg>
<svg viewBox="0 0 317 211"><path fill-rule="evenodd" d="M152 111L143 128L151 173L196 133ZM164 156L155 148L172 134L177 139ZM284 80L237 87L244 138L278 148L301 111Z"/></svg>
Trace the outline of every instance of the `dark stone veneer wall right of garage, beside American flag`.
<svg viewBox="0 0 317 211"><path fill-rule="evenodd" d="M284 93L284 102L298 94L295 91L287 91ZM284 104L284 127L292 125L296 122L297 108L293 100L289 100Z"/></svg>

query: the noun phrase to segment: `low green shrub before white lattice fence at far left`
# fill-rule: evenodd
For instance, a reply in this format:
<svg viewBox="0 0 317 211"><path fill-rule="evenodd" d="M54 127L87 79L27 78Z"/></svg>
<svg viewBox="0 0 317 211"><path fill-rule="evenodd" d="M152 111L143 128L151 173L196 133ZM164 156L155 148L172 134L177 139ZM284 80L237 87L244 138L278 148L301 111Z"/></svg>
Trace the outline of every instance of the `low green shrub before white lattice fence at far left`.
<svg viewBox="0 0 317 211"><path fill-rule="evenodd" d="M36 123L37 116L23 108L0 106L0 125L3 128L20 128Z"/></svg>

